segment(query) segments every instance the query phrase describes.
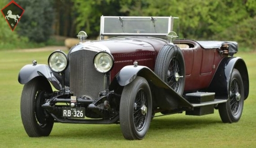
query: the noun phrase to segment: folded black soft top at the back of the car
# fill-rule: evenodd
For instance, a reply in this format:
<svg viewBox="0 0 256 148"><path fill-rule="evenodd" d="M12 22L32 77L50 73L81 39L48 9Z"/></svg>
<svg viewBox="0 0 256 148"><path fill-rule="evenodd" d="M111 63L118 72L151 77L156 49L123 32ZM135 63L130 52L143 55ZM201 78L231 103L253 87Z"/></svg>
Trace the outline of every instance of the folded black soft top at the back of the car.
<svg viewBox="0 0 256 148"><path fill-rule="evenodd" d="M230 41L196 41L202 48L220 48L223 44L228 44L229 55L236 54L238 52L238 43Z"/></svg>

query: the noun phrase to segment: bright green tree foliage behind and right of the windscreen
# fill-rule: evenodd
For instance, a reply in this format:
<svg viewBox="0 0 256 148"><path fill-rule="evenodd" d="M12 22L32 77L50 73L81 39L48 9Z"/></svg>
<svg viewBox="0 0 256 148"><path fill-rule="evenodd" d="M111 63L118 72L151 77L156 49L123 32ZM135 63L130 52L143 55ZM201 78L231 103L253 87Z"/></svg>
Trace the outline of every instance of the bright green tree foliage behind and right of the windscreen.
<svg viewBox="0 0 256 148"><path fill-rule="evenodd" d="M232 40L255 48L256 1L232 0L121 0L120 11L129 16L180 18L181 38Z"/></svg>

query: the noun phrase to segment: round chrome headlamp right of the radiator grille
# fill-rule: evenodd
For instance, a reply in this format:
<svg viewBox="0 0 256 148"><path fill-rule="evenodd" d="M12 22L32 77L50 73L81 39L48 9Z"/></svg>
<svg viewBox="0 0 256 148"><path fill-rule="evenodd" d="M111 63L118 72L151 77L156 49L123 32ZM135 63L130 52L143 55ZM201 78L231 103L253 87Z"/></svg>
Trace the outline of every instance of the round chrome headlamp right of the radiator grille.
<svg viewBox="0 0 256 148"><path fill-rule="evenodd" d="M93 62L95 69L101 73L109 72L114 65L112 55L106 52L100 52L95 55Z"/></svg>

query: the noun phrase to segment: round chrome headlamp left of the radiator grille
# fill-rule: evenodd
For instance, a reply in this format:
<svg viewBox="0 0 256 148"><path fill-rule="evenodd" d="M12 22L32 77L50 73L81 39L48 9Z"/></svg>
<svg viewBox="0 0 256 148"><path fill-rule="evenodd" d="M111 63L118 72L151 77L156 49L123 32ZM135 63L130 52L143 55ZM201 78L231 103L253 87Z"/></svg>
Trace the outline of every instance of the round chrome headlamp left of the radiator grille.
<svg viewBox="0 0 256 148"><path fill-rule="evenodd" d="M68 56L60 50L55 51L50 54L48 65L52 71L60 73L68 67Z"/></svg>

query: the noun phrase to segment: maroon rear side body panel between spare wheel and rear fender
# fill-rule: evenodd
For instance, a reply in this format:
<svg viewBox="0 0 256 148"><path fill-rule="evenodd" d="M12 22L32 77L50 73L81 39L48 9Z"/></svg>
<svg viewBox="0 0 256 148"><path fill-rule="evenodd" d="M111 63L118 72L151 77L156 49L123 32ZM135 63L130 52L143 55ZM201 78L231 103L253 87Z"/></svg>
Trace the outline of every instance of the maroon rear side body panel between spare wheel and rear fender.
<svg viewBox="0 0 256 148"><path fill-rule="evenodd" d="M193 40L178 40L175 43L190 44L190 48L181 48L186 67L184 91L196 91L209 87L223 58L217 48L204 49Z"/></svg>

